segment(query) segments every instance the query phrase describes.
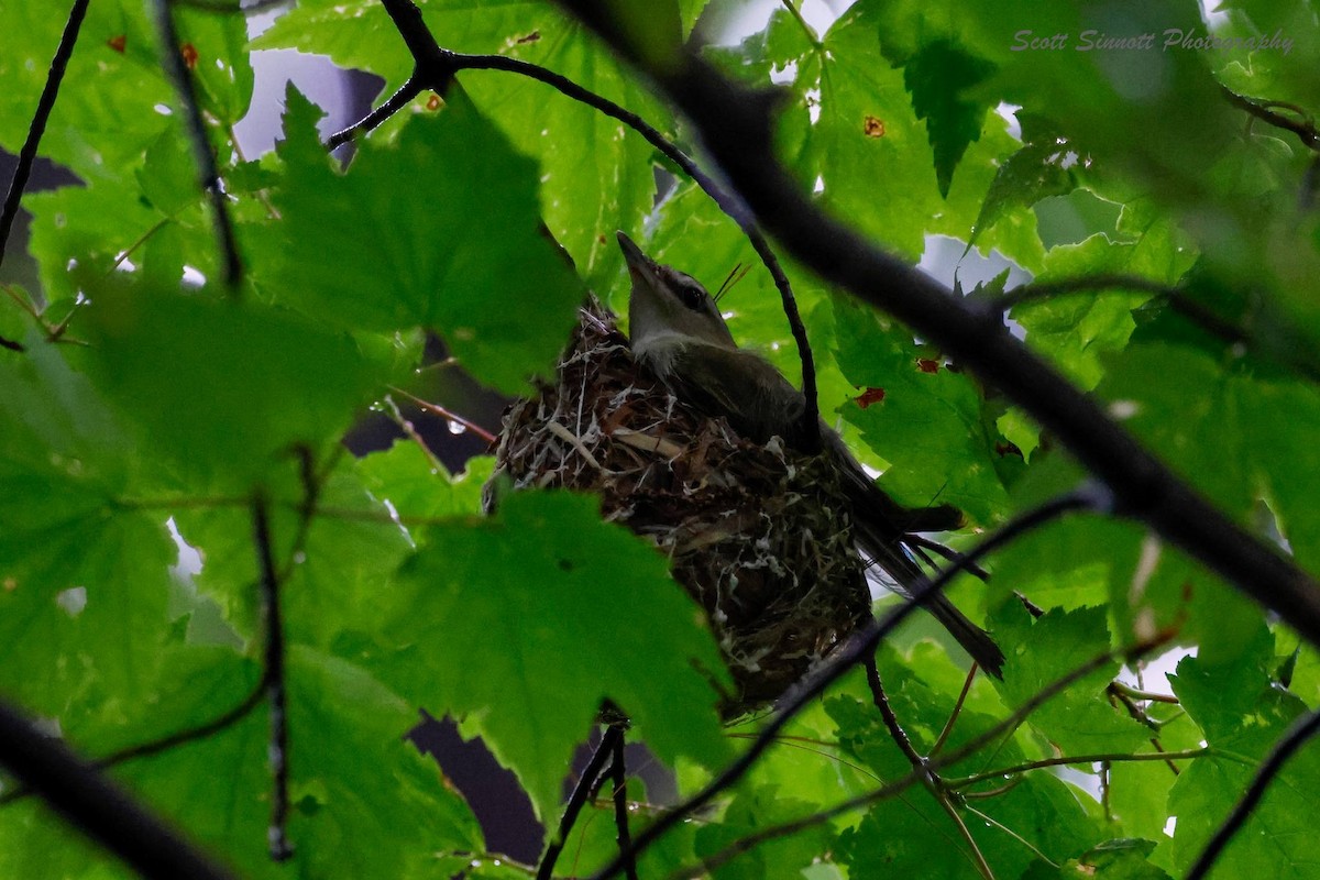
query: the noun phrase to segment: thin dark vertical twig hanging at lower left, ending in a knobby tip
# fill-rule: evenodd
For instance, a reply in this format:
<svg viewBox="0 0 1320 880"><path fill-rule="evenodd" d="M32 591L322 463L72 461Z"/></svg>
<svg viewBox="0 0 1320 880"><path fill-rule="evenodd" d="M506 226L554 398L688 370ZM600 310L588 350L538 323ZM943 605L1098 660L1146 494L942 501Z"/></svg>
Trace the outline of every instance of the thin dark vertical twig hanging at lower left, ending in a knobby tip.
<svg viewBox="0 0 1320 880"><path fill-rule="evenodd" d="M261 578L261 606L265 621L265 693L271 706L271 859L285 862L293 855L288 839L289 818L289 724L288 694L284 683L284 620L280 615L280 575L275 566L269 511L265 499L252 501L252 540L256 545Z"/></svg>

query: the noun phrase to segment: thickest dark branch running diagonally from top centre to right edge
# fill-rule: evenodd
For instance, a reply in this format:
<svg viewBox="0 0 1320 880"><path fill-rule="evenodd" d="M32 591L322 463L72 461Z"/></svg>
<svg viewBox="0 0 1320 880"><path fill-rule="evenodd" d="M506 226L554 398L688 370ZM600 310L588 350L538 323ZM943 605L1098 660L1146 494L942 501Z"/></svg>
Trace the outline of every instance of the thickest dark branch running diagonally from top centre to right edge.
<svg viewBox="0 0 1320 880"><path fill-rule="evenodd" d="M1104 480L1118 512L1143 520L1171 544L1278 612L1320 645L1320 586L1278 548L1247 533L1176 476L1003 326L998 311L874 247L812 202L774 150L772 94L723 77L693 53L652 63L603 0L561 0L618 53L640 66L688 115L762 226L808 268L921 336L999 388Z"/></svg>

